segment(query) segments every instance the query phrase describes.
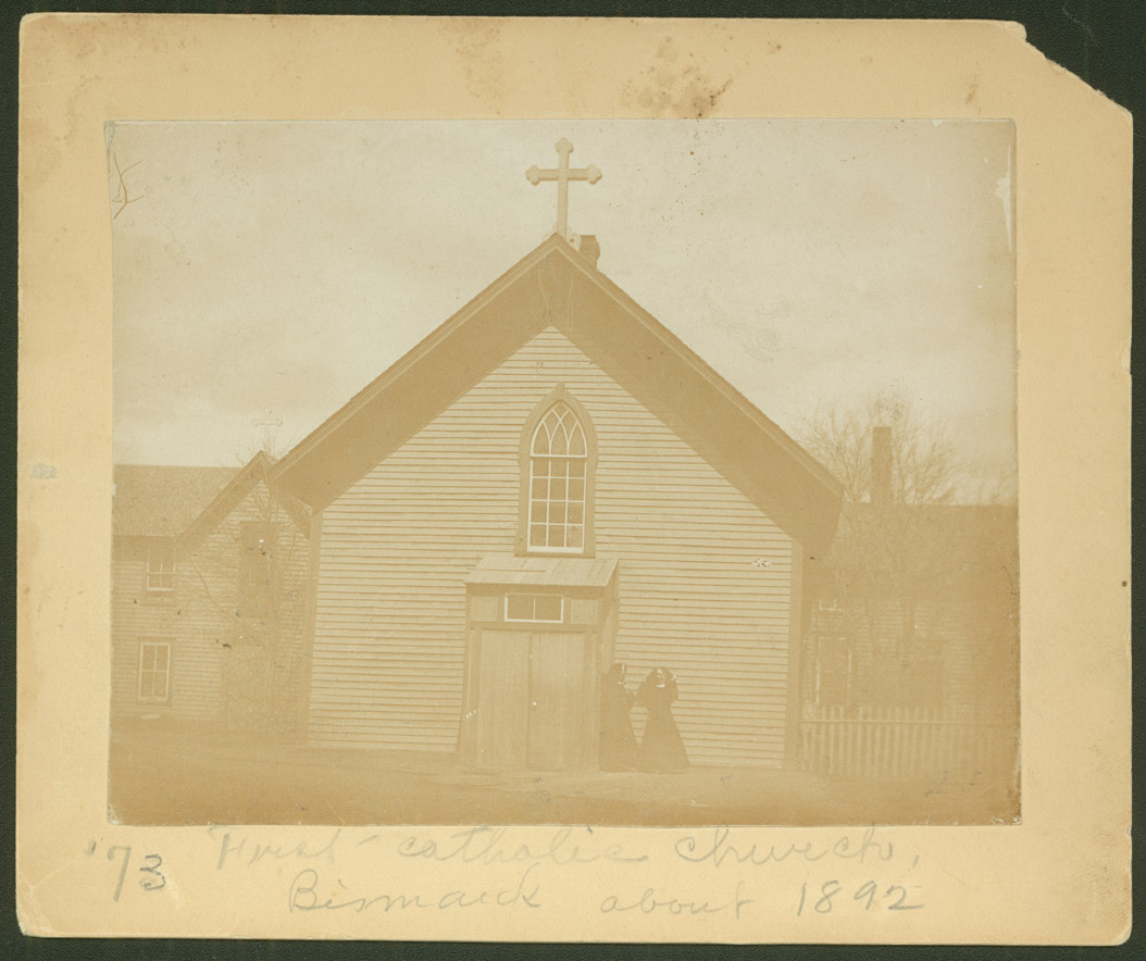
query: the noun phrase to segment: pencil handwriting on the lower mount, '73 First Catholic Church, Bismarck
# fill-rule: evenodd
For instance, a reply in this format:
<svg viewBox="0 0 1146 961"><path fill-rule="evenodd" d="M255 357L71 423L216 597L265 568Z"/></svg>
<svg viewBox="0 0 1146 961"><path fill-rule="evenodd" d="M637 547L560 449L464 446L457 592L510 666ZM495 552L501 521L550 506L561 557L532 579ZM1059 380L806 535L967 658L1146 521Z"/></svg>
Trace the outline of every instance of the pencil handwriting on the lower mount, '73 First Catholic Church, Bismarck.
<svg viewBox="0 0 1146 961"><path fill-rule="evenodd" d="M581 872L584 883L575 890L586 899L583 908L603 915L723 915L739 921L777 911L815 917L925 907L923 885L912 877L919 856L903 853L876 828L840 834L830 843L761 844L747 830L719 827L674 832L667 844L660 834L642 848L606 841L607 832L588 827L557 828L540 841L535 830L528 832L528 841L523 835L519 828L470 827L395 840L393 834L359 837L339 828L320 843L282 844L245 829L212 826L210 862L196 867L249 874L278 865L268 881L283 884L281 904L289 914L566 909L566 893L550 896L567 891L567 885L550 883L555 872ZM100 852L109 862L112 901L118 904L127 889L151 895L168 887L170 866L158 852L91 842L86 853ZM402 869L403 862L421 867ZM284 864L297 869L283 872ZM462 866L466 883L450 883ZM384 879L416 877L417 883L379 884L379 869ZM355 874L366 880L354 880ZM597 883L598 874L610 880ZM629 889L626 875L637 882ZM672 881L647 883L669 875Z"/></svg>

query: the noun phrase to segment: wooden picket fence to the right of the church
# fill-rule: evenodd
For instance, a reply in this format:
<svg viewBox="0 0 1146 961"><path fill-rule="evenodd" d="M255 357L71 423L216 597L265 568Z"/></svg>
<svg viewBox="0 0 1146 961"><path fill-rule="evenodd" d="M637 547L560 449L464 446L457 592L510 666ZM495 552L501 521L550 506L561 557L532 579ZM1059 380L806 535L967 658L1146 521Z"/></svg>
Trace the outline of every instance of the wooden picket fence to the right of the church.
<svg viewBox="0 0 1146 961"><path fill-rule="evenodd" d="M821 778L978 780L1006 756L1003 733L1002 725L944 719L933 708L804 704L801 759Z"/></svg>

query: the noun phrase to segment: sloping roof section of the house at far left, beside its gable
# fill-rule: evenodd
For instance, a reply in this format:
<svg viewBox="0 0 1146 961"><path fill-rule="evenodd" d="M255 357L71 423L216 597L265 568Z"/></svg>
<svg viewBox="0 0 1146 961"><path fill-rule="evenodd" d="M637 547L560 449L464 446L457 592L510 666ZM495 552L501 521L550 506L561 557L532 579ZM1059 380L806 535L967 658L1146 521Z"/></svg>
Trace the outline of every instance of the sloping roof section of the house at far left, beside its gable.
<svg viewBox="0 0 1146 961"><path fill-rule="evenodd" d="M117 464L112 474L111 529L140 537L174 537L206 507L238 471Z"/></svg>

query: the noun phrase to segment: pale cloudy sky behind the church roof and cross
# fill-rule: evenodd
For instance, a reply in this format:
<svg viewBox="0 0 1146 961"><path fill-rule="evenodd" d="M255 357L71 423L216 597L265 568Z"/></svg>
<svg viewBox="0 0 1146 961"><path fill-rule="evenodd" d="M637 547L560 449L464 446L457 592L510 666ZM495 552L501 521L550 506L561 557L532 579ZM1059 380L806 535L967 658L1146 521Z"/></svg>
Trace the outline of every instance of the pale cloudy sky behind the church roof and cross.
<svg viewBox="0 0 1146 961"><path fill-rule="evenodd" d="M599 269L783 428L890 392L1013 474L991 120L118 124L116 460L236 465L267 409L284 452L548 236L562 136Z"/></svg>

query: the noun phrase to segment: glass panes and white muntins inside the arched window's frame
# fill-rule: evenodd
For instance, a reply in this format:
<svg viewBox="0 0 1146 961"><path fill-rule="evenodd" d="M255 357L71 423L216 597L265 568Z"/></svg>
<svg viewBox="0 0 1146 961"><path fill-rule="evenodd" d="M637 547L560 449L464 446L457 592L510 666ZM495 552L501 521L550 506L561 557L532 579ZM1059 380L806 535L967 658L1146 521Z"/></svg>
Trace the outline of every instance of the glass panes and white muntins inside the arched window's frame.
<svg viewBox="0 0 1146 961"><path fill-rule="evenodd" d="M588 444L581 422L565 402L541 418L529 446L531 551L584 551Z"/></svg>

